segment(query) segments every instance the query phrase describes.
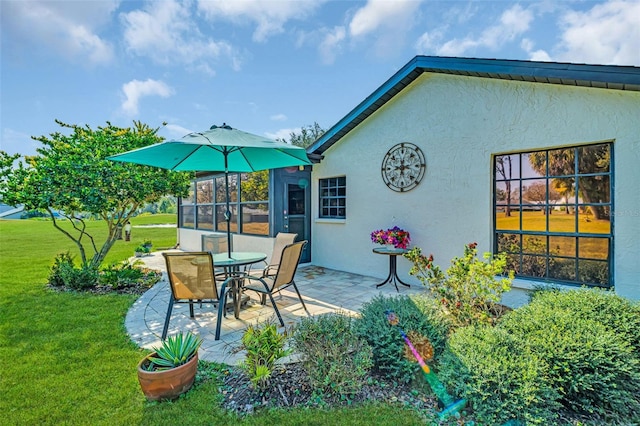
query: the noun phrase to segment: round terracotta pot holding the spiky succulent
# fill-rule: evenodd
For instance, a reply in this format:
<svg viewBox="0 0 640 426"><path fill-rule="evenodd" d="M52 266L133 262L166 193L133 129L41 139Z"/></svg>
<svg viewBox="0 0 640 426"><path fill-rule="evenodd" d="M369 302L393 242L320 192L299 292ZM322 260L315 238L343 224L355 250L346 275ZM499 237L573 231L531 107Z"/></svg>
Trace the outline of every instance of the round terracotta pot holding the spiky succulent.
<svg viewBox="0 0 640 426"><path fill-rule="evenodd" d="M142 393L149 401L159 401L162 399L176 399L193 386L198 369L198 354L191 358L186 364L171 370L146 371L142 366L148 362L150 356L144 357L138 363L138 381L142 388Z"/></svg>

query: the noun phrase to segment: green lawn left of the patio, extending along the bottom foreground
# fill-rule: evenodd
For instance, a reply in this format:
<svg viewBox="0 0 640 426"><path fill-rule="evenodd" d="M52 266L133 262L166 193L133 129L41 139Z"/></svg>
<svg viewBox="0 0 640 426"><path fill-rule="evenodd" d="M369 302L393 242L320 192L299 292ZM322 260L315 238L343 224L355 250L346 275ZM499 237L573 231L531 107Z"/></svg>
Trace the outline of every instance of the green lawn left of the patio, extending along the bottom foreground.
<svg viewBox="0 0 640 426"><path fill-rule="evenodd" d="M105 262L126 259L143 239L154 249L176 243L175 216L141 216L132 238L116 242ZM88 222L99 238L104 223ZM260 413L245 419L220 409L213 381L199 382L175 402L147 402L136 365L147 351L126 335L128 295L55 293L45 288L57 253L73 242L45 220L0 220L0 425L419 425L414 411L383 404Z"/></svg>

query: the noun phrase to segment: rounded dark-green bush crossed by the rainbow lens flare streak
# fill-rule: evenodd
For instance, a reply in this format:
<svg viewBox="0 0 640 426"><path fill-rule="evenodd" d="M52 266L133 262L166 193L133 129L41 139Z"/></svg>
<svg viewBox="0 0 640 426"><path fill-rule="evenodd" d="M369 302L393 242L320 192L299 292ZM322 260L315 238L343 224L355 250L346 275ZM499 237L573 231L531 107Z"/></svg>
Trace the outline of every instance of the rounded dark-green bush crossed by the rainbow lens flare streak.
<svg viewBox="0 0 640 426"><path fill-rule="evenodd" d="M407 359L404 340L397 327L389 324L386 312L394 311L405 333L411 332L429 339L437 358L444 350L448 322L437 302L426 295L376 296L365 303L354 324L356 335L373 348L373 364L383 374L401 382L409 382L420 372L414 359Z"/></svg>

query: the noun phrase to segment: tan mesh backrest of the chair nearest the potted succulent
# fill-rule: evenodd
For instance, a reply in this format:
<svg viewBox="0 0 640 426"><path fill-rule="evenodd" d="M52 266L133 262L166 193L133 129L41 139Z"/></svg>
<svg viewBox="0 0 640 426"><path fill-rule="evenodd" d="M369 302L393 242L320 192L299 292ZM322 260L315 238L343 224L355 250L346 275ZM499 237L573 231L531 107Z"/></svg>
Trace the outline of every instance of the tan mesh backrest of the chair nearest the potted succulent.
<svg viewBox="0 0 640 426"><path fill-rule="evenodd" d="M162 253L171 293L179 300L218 300L218 287L209 252Z"/></svg>

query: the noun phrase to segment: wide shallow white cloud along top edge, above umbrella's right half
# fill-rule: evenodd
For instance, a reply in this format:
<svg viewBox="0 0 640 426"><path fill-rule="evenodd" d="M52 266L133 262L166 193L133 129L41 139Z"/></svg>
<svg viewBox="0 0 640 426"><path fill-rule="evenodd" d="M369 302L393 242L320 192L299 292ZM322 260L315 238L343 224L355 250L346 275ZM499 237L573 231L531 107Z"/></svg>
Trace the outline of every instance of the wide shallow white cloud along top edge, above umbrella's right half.
<svg viewBox="0 0 640 426"><path fill-rule="evenodd" d="M237 23L252 22L256 25L253 40L264 42L269 36L284 32L284 25L292 19L304 20L324 1L264 1L199 0L198 10L210 20L231 19Z"/></svg>

